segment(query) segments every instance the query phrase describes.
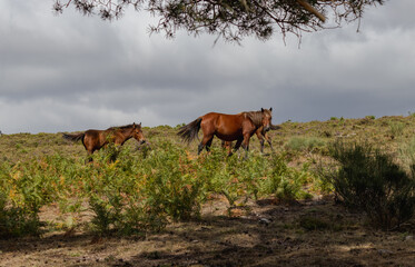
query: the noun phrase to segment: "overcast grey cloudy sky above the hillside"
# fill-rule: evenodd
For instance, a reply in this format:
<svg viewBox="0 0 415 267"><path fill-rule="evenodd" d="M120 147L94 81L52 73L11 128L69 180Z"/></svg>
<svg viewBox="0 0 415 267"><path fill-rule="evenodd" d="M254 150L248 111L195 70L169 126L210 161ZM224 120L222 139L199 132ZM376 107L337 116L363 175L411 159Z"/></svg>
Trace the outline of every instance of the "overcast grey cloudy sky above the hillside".
<svg viewBox="0 0 415 267"><path fill-rule="evenodd" d="M151 18L55 16L51 0L0 1L0 130L59 132L209 111L274 109L274 123L415 112L415 1L284 43L148 33Z"/></svg>

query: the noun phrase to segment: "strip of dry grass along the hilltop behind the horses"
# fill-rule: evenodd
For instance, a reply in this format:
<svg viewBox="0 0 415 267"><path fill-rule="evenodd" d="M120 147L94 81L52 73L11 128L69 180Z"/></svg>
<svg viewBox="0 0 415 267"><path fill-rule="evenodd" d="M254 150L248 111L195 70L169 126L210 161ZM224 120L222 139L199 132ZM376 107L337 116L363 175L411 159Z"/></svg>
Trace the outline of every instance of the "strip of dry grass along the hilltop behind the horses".
<svg viewBox="0 0 415 267"><path fill-rule="evenodd" d="M373 119L369 116L363 119L332 118L327 121L309 122L286 121L280 125L281 129L270 131L269 136L277 151L290 151L296 157L308 158L313 155L324 155L324 147L318 147L312 151L308 149L296 151L289 145L293 138L302 138L304 140L314 139L324 144L328 144L335 139L367 141L376 144L377 147L385 150L397 152L402 144L408 142L414 137L414 123L415 116L392 116L378 119ZM144 134L151 145L157 145L158 141L168 139L177 146L186 146L176 136L177 129L178 127L169 126L144 127ZM126 145L131 147L137 146L134 140L129 140ZM214 146L220 146L220 141L216 138ZM197 144L191 144L189 149L196 154ZM259 151L259 142L255 136L251 138L250 149ZM24 160L57 152L63 156L86 155L80 142L75 145L73 142L63 140L61 134L3 135L0 137L0 150L2 151L1 159L9 161ZM265 150L269 152L268 145L266 145Z"/></svg>

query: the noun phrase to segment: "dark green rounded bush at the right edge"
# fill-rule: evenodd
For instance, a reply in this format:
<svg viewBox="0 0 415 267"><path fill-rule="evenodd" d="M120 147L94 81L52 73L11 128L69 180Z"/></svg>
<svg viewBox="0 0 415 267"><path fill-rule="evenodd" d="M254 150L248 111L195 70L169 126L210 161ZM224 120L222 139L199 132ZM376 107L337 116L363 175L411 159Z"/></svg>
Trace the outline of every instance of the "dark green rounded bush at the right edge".
<svg viewBox="0 0 415 267"><path fill-rule="evenodd" d="M335 142L338 170L322 172L345 205L364 210L385 229L399 227L415 211L415 180L393 159L369 145Z"/></svg>

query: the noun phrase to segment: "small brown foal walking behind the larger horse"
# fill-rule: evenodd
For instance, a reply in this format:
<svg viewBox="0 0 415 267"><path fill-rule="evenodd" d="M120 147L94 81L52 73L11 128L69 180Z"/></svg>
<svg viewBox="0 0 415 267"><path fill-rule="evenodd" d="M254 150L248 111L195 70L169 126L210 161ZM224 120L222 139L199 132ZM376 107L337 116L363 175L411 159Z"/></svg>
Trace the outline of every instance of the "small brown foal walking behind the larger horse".
<svg viewBox="0 0 415 267"><path fill-rule="evenodd" d="M87 130L78 135L63 134L63 138L78 141L82 140L88 156L92 155L96 150L101 149L109 142L122 146L128 139L135 138L139 144L146 142L145 136L141 131L141 122L139 125L132 123L127 126L111 127L107 130Z"/></svg>

